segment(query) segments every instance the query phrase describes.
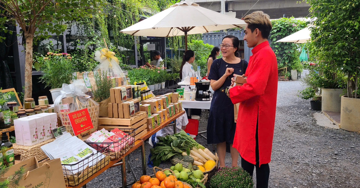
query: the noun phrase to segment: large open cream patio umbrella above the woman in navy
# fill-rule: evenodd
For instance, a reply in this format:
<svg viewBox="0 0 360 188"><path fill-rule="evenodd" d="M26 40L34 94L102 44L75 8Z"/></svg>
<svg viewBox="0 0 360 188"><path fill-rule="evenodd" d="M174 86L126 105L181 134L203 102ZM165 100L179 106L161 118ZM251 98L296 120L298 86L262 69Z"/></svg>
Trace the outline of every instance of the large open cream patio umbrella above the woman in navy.
<svg viewBox="0 0 360 188"><path fill-rule="evenodd" d="M187 35L244 27L245 25L246 23L241 19L203 8L185 0L120 32L152 37L185 35L185 50L187 50Z"/></svg>

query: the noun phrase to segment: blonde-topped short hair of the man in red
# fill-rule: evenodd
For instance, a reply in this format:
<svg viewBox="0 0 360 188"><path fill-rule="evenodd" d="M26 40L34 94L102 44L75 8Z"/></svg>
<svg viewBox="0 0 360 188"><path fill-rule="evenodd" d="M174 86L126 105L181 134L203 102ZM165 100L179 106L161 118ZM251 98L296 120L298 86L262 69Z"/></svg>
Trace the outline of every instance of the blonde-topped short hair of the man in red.
<svg viewBox="0 0 360 188"><path fill-rule="evenodd" d="M270 16L262 11L255 11L244 18L245 23L248 24L248 28L253 32L256 28L261 31L262 38L268 38L271 28L273 28Z"/></svg>

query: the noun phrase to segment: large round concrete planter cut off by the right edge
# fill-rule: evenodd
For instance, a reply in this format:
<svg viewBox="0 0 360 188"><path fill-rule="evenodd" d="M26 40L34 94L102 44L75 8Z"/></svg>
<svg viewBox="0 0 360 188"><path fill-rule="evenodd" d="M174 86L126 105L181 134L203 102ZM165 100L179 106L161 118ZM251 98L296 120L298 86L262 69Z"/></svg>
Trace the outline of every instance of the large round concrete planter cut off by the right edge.
<svg viewBox="0 0 360 188"><path fill-rule="evenodd" d="M360 98L341 96L340 128L360 132Z"/></svg>

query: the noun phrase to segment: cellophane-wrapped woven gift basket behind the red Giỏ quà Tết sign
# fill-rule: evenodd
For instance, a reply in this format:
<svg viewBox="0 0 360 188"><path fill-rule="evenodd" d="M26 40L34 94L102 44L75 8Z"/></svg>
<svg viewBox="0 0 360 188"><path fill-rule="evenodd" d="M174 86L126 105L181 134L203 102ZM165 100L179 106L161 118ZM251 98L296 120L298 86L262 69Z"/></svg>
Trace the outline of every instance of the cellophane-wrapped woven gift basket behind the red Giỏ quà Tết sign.
<svg viewBox="0 0 360 188"><path fill-rule="evenodd" d="M87 110L89 110L90 119L94 126L94 128L89 129L88 131L86 131L84 133L81 133L81 136L85 136L87 134L87 132L92 133L98 129L99 104L91 99L86 100L85 103L78 100L78 97L76 97L75 100L76 100L76 102L73 105L77 105L78 110L85 109L85 108L87 108ZM60 114L61 123L66 128L66 131L69 132L72 136L74 136L74 131L72 130L70 120L68 117L68 113L70 113L70 112L60 112L59 111L58 113Z"/></svg>

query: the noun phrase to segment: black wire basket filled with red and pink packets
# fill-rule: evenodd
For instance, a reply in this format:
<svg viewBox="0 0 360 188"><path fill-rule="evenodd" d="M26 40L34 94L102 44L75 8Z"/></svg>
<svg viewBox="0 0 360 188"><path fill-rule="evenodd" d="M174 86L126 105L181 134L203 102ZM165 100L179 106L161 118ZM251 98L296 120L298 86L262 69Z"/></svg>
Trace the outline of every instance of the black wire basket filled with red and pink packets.
<svg viewBox="0 0 360 188"><path fill-rule="evenodd" d="M113 129L107 129L109 132ZM132 148L135 144L135 130L136 129L119 129L128 134L128 136L124 136L116 142L85 142L89 146L95 148L95 146L108 145L110 160L118 160L120 156L125 154L130 148Z"/></svg>

